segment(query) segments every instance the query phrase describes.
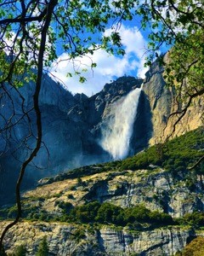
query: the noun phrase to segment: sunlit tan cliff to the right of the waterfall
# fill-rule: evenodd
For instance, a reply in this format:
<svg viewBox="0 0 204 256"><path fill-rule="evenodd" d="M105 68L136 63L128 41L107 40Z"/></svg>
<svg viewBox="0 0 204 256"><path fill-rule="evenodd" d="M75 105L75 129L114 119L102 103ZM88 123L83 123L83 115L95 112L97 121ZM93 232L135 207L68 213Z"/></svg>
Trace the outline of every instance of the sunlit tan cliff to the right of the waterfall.
<svg viewBox="0 0 204 256"><path fill-rule="evenodd" d="M176 102L173 89L167 88L163 79L163 73L164 68L155 62L146 73L146 78L144 79L143 88L146 99L144 111L150 112L151 120L148 129L150 145L164 142L172 133L171 138L203 125L204 97L200 96L192 101L190 108L188 108L184 117L176 125L176 130L173 131L173 125L176 123L179 115L174 115L168 122L167 119L170 113L178 111L178 103Z"/></svg>

